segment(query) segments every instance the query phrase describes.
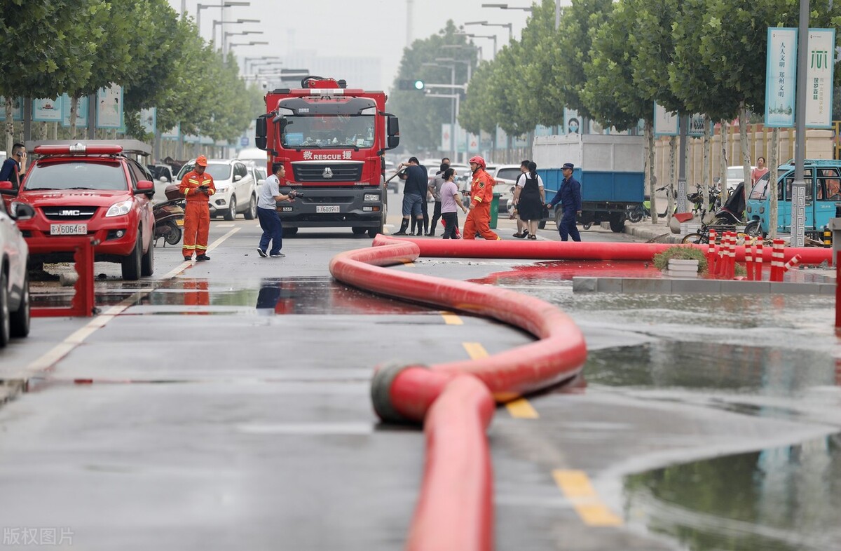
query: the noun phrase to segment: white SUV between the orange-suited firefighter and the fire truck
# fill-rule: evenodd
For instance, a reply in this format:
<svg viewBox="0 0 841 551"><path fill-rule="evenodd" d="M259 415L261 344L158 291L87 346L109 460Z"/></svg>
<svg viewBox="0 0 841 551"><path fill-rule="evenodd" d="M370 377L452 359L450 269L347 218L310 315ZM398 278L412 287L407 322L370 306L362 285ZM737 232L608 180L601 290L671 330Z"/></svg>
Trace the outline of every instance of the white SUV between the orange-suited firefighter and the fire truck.
<svg viewBox="0 0 841 551"><path fill-rule="evenodd" d="M178 172L180 182L184 174L193 170L196 160L188 161ZM257 218L257 182L245 162L239 159L209 159L205 169L213 177L216 193L210 196L210 216L234 220L242 213L246 220Z"/></svg>

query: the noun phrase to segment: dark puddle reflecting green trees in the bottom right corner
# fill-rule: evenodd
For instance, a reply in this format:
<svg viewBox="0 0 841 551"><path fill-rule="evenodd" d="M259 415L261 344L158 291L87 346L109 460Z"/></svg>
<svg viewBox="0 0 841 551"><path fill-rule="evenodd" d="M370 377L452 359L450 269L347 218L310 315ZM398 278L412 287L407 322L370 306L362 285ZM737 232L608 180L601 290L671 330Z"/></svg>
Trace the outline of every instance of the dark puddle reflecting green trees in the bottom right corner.
<svg viewBox="0 0 841 551"><path fill-rule="evenodd" d="M841 435L625 480L627 517L692 551L841 549Z"/></svg>

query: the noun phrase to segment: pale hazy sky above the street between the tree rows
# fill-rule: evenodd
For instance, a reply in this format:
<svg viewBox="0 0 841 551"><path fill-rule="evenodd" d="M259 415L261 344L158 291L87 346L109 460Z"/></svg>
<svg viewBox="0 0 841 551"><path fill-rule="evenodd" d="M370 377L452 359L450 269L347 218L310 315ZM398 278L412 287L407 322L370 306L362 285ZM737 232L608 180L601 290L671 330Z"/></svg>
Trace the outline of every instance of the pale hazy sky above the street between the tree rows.
<svg viewBox="0 0 841 551"><path fill-rule="evenodd" d="M412 39L426 38L442 29L447 19L456 26L468 21L512 23L514 37L526 24L528 13L521 10L482 8L482 3L498 0L413 0ZM196 4L220 4L222 0L169 0L176 11L182 5L195 19ZM318 0L290 2L288 0L250 0L250 6L225 8L225 21L260 19L260 24L228 25L228 32L262 30L263 34L229 36L235 42L267 41L268 45L238 46L239 56L285 56L290 47L316 50L318 56L366 56L382 59L383 89L394 81L403 49L406 45L407 0ZM512 0L511 6L529 6L532 0ZM203 8L199 17L202 36L210 40L214 20L222 20L222 9ZM220 40L220 25L216 26L216 40ZM508 29L470 25L473 34L496 34L502 47L508 41ZM482 47L484 59L493 54L493 41L474 39ZM336 75L341 78L341 75Z"/></svg>

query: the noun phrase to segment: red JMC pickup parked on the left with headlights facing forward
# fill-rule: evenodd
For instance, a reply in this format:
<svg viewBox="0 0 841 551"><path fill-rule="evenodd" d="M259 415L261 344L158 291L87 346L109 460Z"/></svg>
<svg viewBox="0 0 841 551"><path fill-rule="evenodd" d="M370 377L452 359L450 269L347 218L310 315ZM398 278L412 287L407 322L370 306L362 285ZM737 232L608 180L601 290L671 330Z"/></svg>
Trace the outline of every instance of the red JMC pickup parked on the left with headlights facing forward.
<svg viewBox="0 0 841 551"><path fill-rule="evenodd" d="M119 262L126 280L151 276L155 184L151 172L128 156L149 152L98 140L36 144L40 157L30 163L15 199L18 209L24 204L34 210L29 220L18 220L30 262L73 262L63 243L88 236L98 241L94 260Z"/></svg>

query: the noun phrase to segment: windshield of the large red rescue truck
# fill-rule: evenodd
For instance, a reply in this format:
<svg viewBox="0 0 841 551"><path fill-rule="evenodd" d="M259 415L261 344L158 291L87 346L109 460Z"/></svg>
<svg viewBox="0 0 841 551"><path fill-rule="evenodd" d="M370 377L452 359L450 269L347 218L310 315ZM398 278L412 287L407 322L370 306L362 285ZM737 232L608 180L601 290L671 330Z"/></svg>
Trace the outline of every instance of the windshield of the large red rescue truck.
<svg viewBox="0 0 841 551"><path fill-rule="evenodd" d="M286 115L280 141L283 147L372 147L374 120L373 115Z"/></svg>

